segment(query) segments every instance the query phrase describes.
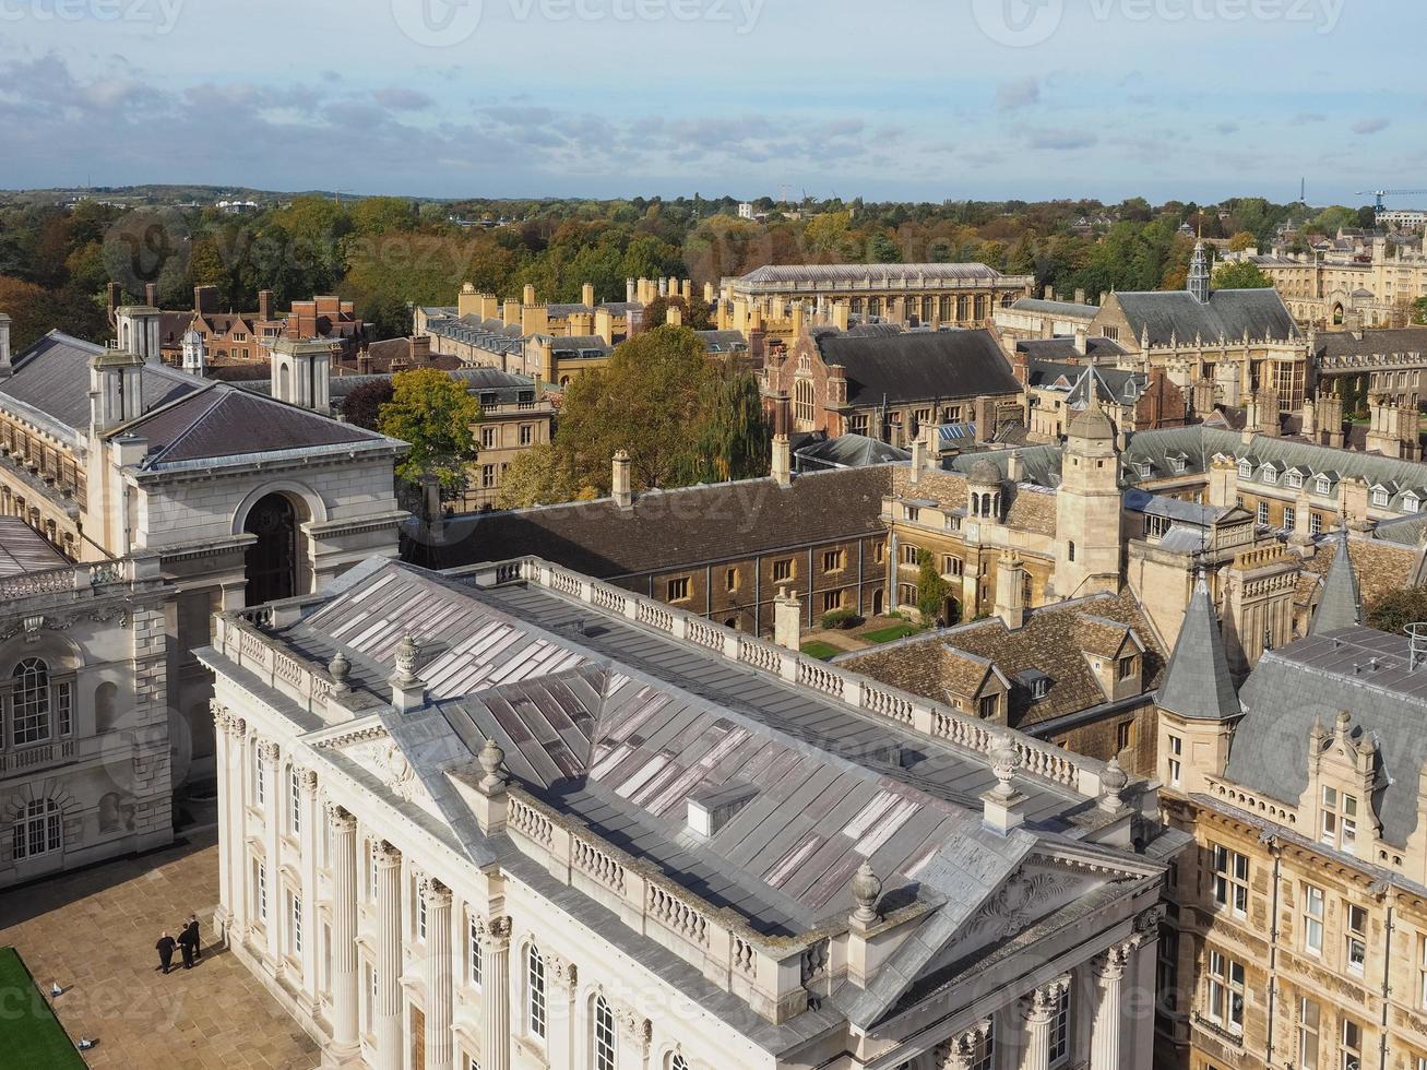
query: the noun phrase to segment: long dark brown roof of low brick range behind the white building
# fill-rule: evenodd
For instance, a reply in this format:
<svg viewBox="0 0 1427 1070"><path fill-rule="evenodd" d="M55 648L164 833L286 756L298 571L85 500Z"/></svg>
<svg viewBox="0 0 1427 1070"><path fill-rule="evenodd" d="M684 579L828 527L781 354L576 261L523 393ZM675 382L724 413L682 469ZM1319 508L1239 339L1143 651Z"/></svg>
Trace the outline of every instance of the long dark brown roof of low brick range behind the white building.
<svg viewBox="0 0 1427 1070"><path fill-rule="evenodd" d="M692 568L882 531L888 465L806 472L791 488L745 479L614 499L458 516L440 545L404 556L441 568L542 556L601 579Z"/></svg>

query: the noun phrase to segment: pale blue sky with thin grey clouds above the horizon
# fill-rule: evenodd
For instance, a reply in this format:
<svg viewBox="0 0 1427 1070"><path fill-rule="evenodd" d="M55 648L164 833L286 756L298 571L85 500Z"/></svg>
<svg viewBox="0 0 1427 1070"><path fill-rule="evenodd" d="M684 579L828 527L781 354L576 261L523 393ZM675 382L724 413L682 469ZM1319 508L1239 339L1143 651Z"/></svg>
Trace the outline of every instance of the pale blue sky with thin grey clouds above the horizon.
<svg viewBox="0 0 1427 1070"><path fill-rule="evenodd" d="M0 187L1360 205L1427 188L1424 53L1423 0L0 0Z"/></svg>

